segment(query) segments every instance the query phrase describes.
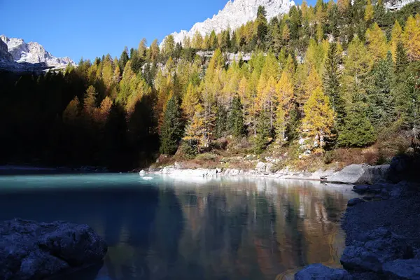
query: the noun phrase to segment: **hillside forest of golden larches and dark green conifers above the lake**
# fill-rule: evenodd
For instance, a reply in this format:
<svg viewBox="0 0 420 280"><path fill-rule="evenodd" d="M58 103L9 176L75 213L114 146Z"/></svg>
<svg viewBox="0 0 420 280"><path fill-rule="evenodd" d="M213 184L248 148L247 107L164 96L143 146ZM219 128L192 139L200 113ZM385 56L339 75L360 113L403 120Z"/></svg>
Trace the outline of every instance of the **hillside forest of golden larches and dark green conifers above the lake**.
<svg viewBox="0 0 420 280"><path fill-rule="evenodd" d="M419 11L318 0L267 20L260 6L236 30L143 39L65 71L2 72L0 163L129 170L224 153L328 163L338 149L398 146L395 135L420 125Z"/></svg>

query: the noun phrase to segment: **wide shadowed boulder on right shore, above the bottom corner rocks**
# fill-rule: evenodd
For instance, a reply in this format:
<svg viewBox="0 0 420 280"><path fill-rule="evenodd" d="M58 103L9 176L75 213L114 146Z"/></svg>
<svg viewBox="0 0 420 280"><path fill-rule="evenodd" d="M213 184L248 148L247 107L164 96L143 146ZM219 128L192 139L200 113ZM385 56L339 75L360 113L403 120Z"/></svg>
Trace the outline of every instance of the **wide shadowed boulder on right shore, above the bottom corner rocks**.
<svg viewBox="0 0 420 280"><path fill-rule="evenodd" d="M360 235L344 249L341 263L347 270L382 272L385 262L412 258L407 242L386 228L378 228Z"/></svg>

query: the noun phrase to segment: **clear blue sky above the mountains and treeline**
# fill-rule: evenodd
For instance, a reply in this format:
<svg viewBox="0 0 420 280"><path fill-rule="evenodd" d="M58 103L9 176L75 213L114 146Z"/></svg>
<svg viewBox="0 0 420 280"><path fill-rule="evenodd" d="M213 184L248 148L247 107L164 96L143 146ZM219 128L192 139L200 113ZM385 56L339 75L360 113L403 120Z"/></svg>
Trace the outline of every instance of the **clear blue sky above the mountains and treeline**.
<svg viewBox="0 0 420 280"><path fill-rule="evenodd" d="M211 18L228 0L0 0L0 34L36 41L56 57L120 56ZM301 2L301 1L299 1ZM311 3L312 1L309 1Z"/></svg>

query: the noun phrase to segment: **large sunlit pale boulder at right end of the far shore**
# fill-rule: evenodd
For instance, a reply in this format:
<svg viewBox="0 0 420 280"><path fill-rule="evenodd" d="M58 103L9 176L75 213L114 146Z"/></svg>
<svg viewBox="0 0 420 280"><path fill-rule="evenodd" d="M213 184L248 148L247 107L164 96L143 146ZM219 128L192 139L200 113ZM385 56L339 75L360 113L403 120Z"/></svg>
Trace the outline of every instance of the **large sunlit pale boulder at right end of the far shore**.
<svg viewBox="0 0 420 280"><path fill-rule="evenodd" d="M373 184L386 180L389 165L349 165L328 176L327 181L350 184Z"/></svg>

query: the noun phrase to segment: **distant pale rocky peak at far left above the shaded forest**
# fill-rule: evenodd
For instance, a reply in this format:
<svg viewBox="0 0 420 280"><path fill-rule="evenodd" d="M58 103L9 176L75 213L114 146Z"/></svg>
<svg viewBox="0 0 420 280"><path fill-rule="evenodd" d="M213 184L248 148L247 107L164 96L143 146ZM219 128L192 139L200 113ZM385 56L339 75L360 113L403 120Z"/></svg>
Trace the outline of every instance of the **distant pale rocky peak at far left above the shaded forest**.
<svg viewBox="0 0 420 280"><path fill-rule="evenodd" d="M28 64L45 64L58 69L66 68L67 65L76 65L69 57L55 57L47 52L39 43L25 43L21 38L8 38L0 36L3 43L6 43L8 52L13 61Z"/></svg>

